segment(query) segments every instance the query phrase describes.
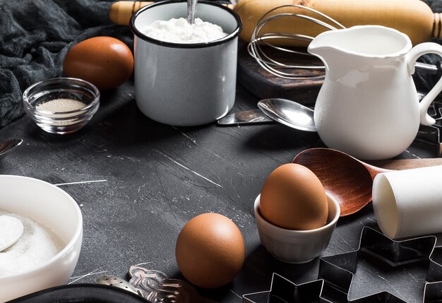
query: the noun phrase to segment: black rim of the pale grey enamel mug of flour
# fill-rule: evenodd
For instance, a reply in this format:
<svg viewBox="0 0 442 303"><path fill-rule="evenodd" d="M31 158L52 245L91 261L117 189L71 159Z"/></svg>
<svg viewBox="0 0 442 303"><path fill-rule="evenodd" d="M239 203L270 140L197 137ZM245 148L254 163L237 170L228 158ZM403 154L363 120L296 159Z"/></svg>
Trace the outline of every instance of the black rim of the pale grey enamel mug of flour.
<svg viewBox="0 0 442 303"><path fill-rule="evenodd" d="M162 40L154 39L153 37L149 37L148 35L145 35L145 34L143 34L143 32L138 30L138 28L136 26L136 19L138 18L138 16L143 14L143 12L148 10L149 8L153 8L155 6L167 5L167 4L183 4L183 5L185 5L186 2L179 1L179 0L158 1L158 2L154 2L153 4L149 4L147 6L144 6L141 9L139 9L138 11L133 13L131 20L129 22L129 27L131 28L131 31L133 32L133 34L136 35L141 40L144 40L146 42L150 42L153 44L158 44L158 45L161 45L164 47L192 49L192 48L202 48L202 47L213 47L218 44L224 44L224 43L229 42L230 40L233 40L234 38L238 37L239 32L241 32L242 23L241 23L241 18L239 18L238 14L235 11L233 11L232 9L227 8L226 6L223 6L221 4L217 4L215 2L210 2L210 1L198 1L197 9L198 9L198 5L216 6L217 8L221 8L224 11L226 11L227 13L229 13L230 15L232 15L237 23L236 28L232 32L228 33L228 35L225 37L222 37L220 39L213 40L210 42L205 42L205 43L173 43L173 42L165 42Z"/></svg>

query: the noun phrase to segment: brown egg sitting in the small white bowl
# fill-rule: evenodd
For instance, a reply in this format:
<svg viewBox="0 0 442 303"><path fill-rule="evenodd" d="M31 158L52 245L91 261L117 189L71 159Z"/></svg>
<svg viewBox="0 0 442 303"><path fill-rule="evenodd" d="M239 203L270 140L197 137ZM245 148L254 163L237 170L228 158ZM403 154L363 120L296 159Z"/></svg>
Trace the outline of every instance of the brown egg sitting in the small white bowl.
<svg viewBox="0 0 442 303"><path fill-rule="evenodd" d="M326 224L328 202L321 181L299 164L281 165L265 180L259 210L265 220L289 230L313 230Z"/></svg>

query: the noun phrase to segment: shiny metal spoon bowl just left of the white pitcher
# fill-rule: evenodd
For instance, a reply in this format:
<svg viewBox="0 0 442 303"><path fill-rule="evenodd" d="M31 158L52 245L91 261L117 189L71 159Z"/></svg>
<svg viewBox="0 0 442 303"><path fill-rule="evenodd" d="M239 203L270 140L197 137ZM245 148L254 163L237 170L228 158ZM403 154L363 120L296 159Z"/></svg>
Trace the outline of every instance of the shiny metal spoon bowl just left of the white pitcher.
<svg viewBox="0 0 442 303"><path fill-rule="evenodd" d="M293 129L316 131L313 109L297 102L273 98L258 102L258 107L270 119Z"/></svg>

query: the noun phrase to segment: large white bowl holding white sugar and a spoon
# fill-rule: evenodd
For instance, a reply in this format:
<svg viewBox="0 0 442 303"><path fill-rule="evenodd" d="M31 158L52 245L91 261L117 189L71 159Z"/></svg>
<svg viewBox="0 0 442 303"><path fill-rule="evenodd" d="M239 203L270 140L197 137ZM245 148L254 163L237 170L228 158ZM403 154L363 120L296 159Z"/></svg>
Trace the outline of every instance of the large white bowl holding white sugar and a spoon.
<svg viewBox="0 0 442 303"><path fill-rule="evenodd" d="M66 243L59 254L37 268L0 276L0 302L66 284L78 261L83 240L83 217L76 201L47 182L0 175L0 210L31 218Z"/></svg>

